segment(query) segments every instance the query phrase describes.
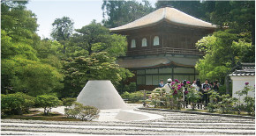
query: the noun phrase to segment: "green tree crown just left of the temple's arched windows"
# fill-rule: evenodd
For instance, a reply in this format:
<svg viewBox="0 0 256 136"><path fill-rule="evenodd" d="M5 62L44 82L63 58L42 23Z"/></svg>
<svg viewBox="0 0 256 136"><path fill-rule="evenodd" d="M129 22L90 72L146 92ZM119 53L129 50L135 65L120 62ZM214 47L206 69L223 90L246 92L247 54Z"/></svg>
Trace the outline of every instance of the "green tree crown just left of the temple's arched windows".
<svg viewBox="0 0 256 136"><path fill-rule="evenodd" d="M124 56L126 52L126 38L117 34L110 34L109 29L100 23L92 21L81 29L76 29L69 41L68 53L70 57L108 52L113 57Z"/></svg>

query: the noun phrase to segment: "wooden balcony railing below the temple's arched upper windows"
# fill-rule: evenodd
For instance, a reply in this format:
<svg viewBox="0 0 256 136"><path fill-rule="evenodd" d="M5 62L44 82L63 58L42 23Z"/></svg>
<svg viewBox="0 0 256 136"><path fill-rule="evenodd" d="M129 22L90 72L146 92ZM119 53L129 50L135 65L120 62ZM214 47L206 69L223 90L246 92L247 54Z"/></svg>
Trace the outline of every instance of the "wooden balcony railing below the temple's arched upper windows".
<svg viewBox="0 0 256 136"><path fill-rule="evenodd" d="M146 54L194 54L203 55L198 49L187 49L187 48L174 48L174 47L163 47L163 48L149 48L149 49L138 49L128 51L128 55L146 55Z"/></svg>

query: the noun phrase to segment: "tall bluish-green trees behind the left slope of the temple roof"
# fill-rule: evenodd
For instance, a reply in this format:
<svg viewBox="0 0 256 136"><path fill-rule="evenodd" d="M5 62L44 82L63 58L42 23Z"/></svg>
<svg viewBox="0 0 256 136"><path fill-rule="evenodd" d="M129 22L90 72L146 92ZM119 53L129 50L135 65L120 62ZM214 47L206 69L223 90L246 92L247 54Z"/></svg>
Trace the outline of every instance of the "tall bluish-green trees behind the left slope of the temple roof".
<svg viewBox="0 0 256 136"><path fill-rule="evenodd" d="M154 8L147 0L142 1L142 3L134 0L104 0L102 4L103 25L108 28L125 25L154 11Z"/></svg>

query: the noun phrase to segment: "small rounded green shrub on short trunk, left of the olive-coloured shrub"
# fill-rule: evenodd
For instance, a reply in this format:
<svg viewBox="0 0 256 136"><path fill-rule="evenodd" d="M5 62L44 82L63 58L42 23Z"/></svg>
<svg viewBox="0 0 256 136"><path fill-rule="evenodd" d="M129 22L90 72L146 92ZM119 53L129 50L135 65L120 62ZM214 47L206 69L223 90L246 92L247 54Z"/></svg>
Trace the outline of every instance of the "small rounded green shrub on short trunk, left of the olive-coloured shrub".
<svg viewBox="0 0 256 136"><path fill-rule="evenodd" d="M35 104L44 108L44 115L48 115L53 107L60 105L62 102L57 97L49 95L41 95L35 98Z"/></svg>

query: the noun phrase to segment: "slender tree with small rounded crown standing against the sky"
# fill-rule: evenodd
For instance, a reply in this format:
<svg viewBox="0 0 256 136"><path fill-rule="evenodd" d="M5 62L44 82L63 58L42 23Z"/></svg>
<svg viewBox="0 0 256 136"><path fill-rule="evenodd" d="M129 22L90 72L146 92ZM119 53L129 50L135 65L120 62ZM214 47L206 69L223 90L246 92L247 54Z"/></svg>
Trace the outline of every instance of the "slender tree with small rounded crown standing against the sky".
<svg viewBox="0 0 256 136"><path fill-rule="evenodd" d="M72 19L68 17L56 18L52 24L54 28L50 35L63 45L64 54L66 53L65 42L72 36L73 25Z"/></svg>

